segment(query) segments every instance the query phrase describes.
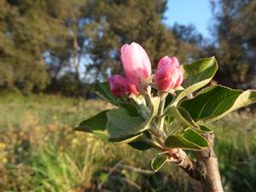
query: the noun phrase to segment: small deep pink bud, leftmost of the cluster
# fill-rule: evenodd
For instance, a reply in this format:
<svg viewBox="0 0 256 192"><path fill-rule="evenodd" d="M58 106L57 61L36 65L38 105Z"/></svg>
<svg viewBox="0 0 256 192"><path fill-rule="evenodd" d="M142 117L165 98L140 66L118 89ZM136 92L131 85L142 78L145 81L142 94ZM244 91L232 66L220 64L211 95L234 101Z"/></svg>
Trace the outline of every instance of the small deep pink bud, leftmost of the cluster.
<svg viewBox="0 0 256 192"><path fill-rule="evenodd" d="M113 96L123 96L128 94L128 81L120 75L113 75L108 79L109 87Z"/></svg>

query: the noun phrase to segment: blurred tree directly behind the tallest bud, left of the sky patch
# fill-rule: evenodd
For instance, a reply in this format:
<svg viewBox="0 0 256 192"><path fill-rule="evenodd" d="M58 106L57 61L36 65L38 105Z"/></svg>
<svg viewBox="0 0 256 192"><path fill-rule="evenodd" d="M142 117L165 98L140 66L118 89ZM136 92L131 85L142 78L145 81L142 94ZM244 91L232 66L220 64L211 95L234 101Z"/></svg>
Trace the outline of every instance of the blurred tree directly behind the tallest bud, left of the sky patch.
<svg viewBox="0 0 256 192"><path fill-rule="evenodd" d="M154 66L161 55L178 55L183 62L195 58L197 44L183 40L182 31L168 29L162 22L165 12L166 0L97 1L90 31L91 64L87 67L93 81L119 73L119 48L135 40L148 51Z"/></svg>

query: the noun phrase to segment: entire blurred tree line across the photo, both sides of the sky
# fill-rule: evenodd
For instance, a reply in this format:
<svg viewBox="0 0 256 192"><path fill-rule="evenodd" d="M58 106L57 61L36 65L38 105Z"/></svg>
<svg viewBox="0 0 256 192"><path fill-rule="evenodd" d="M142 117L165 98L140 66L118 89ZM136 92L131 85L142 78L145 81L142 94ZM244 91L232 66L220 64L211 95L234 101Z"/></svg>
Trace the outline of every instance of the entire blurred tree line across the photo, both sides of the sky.
<svg viewBox="0 0 256 192"><path fill-rule="evenodd" d="M255 4L212 0L216 42L211 44L194 26L168 28L166 0L3 0L0 86L84 94L84 84L119 73L120 46L137 41L154 67L160 54L177 55L181 63L216 55L219 83L253 87Z"/></svg>

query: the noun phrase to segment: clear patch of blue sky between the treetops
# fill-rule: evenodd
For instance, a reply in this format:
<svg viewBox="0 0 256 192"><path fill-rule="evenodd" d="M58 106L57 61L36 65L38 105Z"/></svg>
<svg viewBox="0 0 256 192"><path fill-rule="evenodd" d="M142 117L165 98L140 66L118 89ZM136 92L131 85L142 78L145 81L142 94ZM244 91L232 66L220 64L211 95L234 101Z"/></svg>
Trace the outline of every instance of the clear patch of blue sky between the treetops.
<svg viewBox="0 0 256 192"><path fill-rule="evenodd" d="M209 24L212 18L210 0L168 0L165 23L172 26L193 24L204 37L210 38Z"/></svg>

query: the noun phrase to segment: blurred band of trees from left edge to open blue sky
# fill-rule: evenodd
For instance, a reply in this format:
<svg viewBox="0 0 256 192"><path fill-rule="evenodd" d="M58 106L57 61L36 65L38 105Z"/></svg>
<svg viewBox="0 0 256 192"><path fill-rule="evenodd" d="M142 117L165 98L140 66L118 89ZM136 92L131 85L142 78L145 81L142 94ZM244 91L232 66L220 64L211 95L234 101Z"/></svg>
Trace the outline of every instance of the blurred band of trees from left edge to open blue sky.
<svg viewBox="0 0 256 192"><path fill-rule="evenodd" d="M122 44L142 44L154 67L163 55L184 62L199 51L191 40L195 28L183 32L162 23L166 0L3 0L0 6L2 87L48 85L48 91L84 95L84 83L120 72Z"/></svg>

